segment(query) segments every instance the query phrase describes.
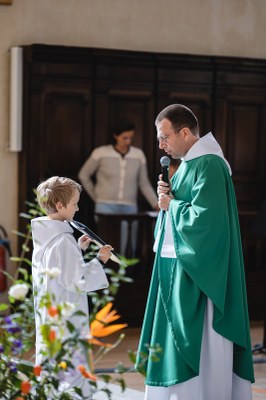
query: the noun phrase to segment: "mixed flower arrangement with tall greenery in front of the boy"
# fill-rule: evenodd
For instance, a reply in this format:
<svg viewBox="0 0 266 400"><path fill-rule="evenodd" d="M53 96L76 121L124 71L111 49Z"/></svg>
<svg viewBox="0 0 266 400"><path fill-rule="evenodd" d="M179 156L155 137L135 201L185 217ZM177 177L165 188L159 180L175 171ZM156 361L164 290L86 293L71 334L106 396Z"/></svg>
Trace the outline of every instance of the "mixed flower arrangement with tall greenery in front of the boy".
<svg viewBox="0 0 266 400"><path fill-rule="evenodd" d="M36 203L27 203L29 211L20 214L23 218L42 215L42 210ZM92 312L90 314L90 337L84 337L81 330L70 322L70 317L82 316L76 305L71 303L55 304L54 298L45 293L40 302L40 308L45 308L49 319L41 325L43 341L42 354L44 361L35 365L33 348L35 342L33 289L31 274L31 227L26 225L26 233L16 232L24 238L20 257L11 259L18 263L16 277L9 278L13 285L9 289L10 304L0 304L0 398L1 400L46 400L46 399L90 399L92 393L103 391L108 399L112 393L108 388L110 383L118 383L122 390L125 382L122 374L127 371L122 365L114 368L121 377L112 377L97 370L98 361L109 351L119 345L124 337L120 334L114 343L106 343L103 338L124 329L126 324L114 324L120 315L112 310L113 300L122 282L130 282L126 277L126 267L138 260L126 260L118 270L107 268L110 286L100 292L91 293ZM95 255L94 249L85 257ZM51 268L45 271L49 279L54 279L59 271ZM41 310L40 310L41 312ZM84 315L83 315L84 316ZM72 355L76 349L82 348L86 363L74 366ZM68 387L65 375L79 374L82 386ZM101 381L99 387L98 382ZM90 387L88 391L83 391Z"/></svg>

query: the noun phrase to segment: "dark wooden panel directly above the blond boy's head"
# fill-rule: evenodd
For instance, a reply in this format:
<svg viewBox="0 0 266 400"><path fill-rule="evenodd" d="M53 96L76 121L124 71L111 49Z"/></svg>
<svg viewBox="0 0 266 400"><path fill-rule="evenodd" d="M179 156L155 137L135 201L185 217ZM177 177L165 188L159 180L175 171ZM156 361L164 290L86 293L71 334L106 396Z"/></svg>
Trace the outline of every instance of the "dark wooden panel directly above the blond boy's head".
<svg viewBox="0 0 266 400"><path fill-rule="evenodd" d="M46 175L73 175L73 171L79 169L82 149L91 136L88 96L89 93L84 90L46 93L43 132L43 167Z"/></svg>

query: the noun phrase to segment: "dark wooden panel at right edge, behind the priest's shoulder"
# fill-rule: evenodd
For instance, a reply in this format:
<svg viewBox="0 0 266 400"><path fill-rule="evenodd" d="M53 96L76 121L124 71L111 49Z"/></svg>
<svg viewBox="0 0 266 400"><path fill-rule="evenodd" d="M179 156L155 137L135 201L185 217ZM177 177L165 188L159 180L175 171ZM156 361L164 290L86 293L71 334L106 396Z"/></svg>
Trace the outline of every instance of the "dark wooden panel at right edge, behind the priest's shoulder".
<svg viewBox="0 0 266 400"><path fill-rule="evenodd" d="M266 95L266 92L265 92ZM233 172L238 206L257 210L266 197L265 100L228 94L217 102L216 131Z"/></svg>

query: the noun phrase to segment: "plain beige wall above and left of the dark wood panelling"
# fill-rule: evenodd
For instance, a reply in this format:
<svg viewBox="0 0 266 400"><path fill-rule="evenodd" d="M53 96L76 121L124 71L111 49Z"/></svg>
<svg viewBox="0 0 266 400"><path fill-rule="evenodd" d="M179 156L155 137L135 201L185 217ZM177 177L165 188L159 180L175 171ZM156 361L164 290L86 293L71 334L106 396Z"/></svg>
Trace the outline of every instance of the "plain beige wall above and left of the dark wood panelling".
<svg viewBox="0 0 266 400"><path fill-rule="evenodd" d="M15 251L9 53L32 43L266 59L265 0L13 0L0 5L0 224Z"/></svg>

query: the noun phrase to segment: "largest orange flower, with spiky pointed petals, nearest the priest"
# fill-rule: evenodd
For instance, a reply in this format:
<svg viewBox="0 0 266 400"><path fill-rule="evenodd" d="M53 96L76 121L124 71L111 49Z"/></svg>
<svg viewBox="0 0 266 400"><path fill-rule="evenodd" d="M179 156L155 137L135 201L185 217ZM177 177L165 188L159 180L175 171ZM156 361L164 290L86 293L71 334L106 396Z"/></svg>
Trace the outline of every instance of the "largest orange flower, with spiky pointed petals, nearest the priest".
<svg viewBox="0 0 266 400"><path fill-rule="evenodd" d="M114 332L117 332L125 327L127 324L113 324L109 325L111 322L116 321L121 318L120 315L117 314L116 310L111 310L113 303L106 304L95 317L95 320L91 323L91 335L95 337L104 337L111 335ZM91 342L92 340L90 340Z"/></svg>

